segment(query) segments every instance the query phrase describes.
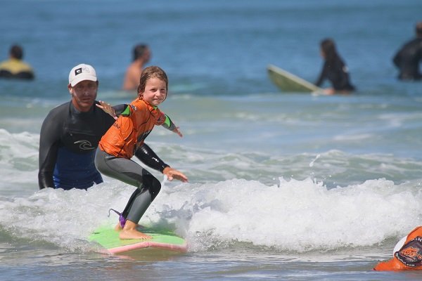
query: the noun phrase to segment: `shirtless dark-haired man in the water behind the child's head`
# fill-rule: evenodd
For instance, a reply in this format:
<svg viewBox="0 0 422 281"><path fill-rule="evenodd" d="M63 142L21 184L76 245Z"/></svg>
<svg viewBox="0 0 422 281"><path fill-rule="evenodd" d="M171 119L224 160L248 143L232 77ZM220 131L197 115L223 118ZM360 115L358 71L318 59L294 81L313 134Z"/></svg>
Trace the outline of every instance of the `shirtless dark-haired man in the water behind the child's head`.
<svg viewBox="0 0 422 281"><path fill-rule="evenodd" d="M147 45L139 44L134 47L134 60L127 67L126 74L124 74L123 90L132 91L138 89L139 77L143 67L151 58L151 51Z"/></svg>

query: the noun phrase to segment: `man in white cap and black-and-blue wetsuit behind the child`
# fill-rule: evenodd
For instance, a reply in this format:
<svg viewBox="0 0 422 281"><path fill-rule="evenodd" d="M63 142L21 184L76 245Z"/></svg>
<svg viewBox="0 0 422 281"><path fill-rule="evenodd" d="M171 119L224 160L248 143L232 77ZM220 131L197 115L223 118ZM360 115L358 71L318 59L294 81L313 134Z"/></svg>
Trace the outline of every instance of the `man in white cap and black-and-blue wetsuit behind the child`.
<svg viewBox="0 0 422 281"><path fill-rule="evenodd" d="M87 189L103 178L94 165L101 136L115 119L96 106L98 80L91 65L80 64L69 74L68 90L72 99L53 108L41 126L39 138L39 189ZM118 114L123 105L114 107ZM162 162L144 144L136 149L136 157L167 176L174 169Z"/></svg>

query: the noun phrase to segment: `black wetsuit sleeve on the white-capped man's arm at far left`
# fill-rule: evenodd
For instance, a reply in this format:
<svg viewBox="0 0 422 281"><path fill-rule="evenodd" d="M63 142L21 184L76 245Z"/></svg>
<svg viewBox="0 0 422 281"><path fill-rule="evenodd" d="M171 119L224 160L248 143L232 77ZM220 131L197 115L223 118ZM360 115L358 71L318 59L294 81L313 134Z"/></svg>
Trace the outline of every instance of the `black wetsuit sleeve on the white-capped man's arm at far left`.
<svg viewBox="0 0 422 281"><path fill-rule="evenodd" d="M39 189L54 188L53 171L60 141L60 122L51 112L41 126L39 134Z"/></svg>

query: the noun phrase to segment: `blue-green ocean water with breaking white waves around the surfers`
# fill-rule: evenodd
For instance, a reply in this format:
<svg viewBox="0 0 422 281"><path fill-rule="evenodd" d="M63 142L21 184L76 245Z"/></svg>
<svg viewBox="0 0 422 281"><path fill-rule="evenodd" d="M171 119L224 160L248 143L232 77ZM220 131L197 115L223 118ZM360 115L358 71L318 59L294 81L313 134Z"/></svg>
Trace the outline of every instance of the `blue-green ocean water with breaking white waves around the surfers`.
<svg viewBox="0 0 422 281"><path fill-rule="evenodd" d="M22 44L34 81L0 80L1 280L421 280L378 273L422 224L422 84L391 58L414 37L419 0L4 0L0 56ZM335 40L357 93L281 93L274 64L316 80L319 41ZM147 143L189 183L162 181L141 223L172 228L186 254L98 254L131 186L39 190L39 130L70 99L68 72L96 67L98 99L120 90L132 47L170 79L161 109L183 138ZM326 84L325 86L328 86Z"/></svg>

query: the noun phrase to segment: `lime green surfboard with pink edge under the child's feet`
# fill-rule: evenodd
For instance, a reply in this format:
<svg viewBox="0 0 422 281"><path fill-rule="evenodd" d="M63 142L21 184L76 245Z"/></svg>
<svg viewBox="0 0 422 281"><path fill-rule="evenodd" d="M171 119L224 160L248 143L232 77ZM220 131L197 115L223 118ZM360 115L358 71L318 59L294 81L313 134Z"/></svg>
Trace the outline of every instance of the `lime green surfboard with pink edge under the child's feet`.
<svg viewBox="0 0 422 281"><path fill-rule="evenodd" d="M121 240L119 232L110 226L101 226L89 235L89 241L96 242L106 254L129 254L135 251L160 250L184 253L187 251L186 241L171 230L140 228L139 231L151 237L149 240Z"/></svg>

